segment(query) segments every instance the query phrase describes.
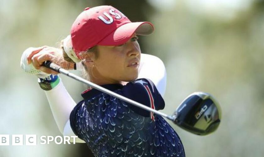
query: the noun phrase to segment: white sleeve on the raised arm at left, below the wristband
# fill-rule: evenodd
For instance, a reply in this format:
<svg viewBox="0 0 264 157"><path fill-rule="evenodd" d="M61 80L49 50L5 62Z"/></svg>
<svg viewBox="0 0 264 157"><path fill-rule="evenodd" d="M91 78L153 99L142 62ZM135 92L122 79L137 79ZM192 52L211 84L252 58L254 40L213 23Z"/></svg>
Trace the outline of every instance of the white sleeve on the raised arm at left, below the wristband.
<svg viewBox="0 0 264 157"><path fill-rule="evenodd" d="M52 115L60 132L64 136L76 136L69 123L70 113L76 103L65 89L62 81L60 80L55 88L47 91L45 90L45 93L50 104ZM72 142L72 138L70 141ZM84 143L80 138L76 138L76 142Z"/></svg>

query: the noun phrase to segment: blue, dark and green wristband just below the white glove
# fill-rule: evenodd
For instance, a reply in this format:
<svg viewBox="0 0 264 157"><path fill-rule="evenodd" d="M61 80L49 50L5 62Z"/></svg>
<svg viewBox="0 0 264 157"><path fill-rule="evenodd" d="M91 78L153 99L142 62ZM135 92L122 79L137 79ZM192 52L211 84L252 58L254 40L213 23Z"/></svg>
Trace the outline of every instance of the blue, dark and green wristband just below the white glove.
<svg viewBox="0 0 264 157"><path fill-rule="evenodd" d="M46 78L38 78L40 88L43 90L51 90L55 88L60 82L58 75L50 75Z"/></svg>

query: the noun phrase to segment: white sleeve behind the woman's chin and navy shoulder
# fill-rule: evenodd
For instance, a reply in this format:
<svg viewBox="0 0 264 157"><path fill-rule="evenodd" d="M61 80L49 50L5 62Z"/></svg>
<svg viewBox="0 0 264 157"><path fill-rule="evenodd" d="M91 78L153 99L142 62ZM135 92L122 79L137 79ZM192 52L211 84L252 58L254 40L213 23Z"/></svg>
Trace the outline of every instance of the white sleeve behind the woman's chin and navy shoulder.
<svg viewBox="0 0 264 157"><path fill-rule="evenodd" d="M165 95L167 73L161 59L156 56L141 53L138 78L148 78L156 86L162 97Z"/></svg>

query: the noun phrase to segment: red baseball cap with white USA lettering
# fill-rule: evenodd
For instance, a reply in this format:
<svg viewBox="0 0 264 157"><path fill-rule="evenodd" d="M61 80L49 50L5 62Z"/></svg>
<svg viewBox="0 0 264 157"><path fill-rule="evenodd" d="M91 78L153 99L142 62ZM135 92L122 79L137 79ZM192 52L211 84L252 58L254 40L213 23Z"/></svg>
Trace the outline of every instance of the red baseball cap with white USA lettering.
<svg viewBox="0 0 264 157"><path fill-rule="evenodd" d="M112 6L85 8L71 28L71 41L78 58L79 53L93 46L117 46L131 36L149 35L154 31L150 22L131 22Z"/></svg>

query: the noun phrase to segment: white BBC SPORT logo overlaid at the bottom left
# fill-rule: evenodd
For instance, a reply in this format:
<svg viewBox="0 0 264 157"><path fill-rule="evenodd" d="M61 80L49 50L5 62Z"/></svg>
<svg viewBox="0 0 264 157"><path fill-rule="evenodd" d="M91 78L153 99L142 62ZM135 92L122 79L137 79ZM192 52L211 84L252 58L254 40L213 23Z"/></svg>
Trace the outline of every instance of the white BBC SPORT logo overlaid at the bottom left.
<svg viewBox="0 0 264 157"><path fill-rule="evenodd" d="M11 138L10 138L11 137ZM71 144L70 139L72 139L72 143L75 144L75 140L78 136L41 136L39 138L40 144L50 144L54 141L56 144ZM11 143L11 144L10 144ZM0 146L36 146L37 145L37 135L36 134L0 134Z"/></svg>

